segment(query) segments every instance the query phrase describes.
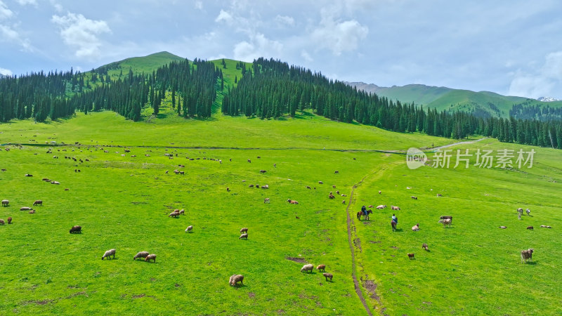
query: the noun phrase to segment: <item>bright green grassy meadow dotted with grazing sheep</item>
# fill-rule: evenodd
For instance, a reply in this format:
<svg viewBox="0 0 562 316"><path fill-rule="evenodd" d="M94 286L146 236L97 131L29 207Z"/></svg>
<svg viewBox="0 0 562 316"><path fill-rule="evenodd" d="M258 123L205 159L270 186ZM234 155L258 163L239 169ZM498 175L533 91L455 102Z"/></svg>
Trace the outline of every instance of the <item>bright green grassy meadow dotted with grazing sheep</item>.
<svg viewBox="0 0 562 316"><path fill-rule="evenodd" d="M51 140L80 145L44 145ZM164 107L150 123L98 112L0 124L0 144L37 144L0 146L0 199L10 200L0 218L13 218L0 226L0 314L363 315L346 224L358 183L351 232L374 314L561 313L560 152L535 147L535 166L521 171L410 170L403 154L384 152L453 142L308 112L185 120ZM452 149L464 147L519 148L483 140ZM336 190L347 197L328 199ZM44 201L37 213L19 211L35 199ZM389 208L358 221L363 204ZM401 208L398 232L389 225L391 205ZM518 207L531 216L518 220ZM174 209L185 216L168 218ZM437 223L440 215L453 216L452 228ZM415 223L418 232L410 230ZM72 225L82 233L70 235ZM238 239L242 227L248 240ZM527 248L534 260L523 265ZM115 260L101 261L108 249L117 249ZM157 254L156 263L131 260L138 251ZM333 282L299 272L305 262L327 265ZM244 286L228 285L233 274L244 275Z"/></svg>

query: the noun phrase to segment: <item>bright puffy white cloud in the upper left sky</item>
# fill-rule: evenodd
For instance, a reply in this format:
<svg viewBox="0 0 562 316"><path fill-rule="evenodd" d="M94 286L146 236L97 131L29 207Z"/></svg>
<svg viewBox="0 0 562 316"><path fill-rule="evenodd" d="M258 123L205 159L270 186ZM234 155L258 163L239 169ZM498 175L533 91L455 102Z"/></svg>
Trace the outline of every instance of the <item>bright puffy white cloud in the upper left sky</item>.
<svg viewBox="0 0 562 316"><path fill-rule="evenodd" d="M51 22L60 27L60 37L65 44L76 49L74 55L88 60L100 57L102 42L98 35L111 33L104 20L90 20L81 14L53 15Z"/></svg>

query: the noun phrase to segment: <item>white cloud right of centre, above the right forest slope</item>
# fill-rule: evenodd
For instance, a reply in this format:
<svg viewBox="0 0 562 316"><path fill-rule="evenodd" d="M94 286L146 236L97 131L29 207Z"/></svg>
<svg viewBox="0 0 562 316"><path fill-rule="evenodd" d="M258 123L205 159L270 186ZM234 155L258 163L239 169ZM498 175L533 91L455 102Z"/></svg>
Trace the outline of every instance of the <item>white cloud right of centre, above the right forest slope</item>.
<svg viewBox="0 0 562 316"><path fill-rule="evenodd" d="M344 51L355 51L368 33L369 28L356 20L340 22L325 16L320 25L313 29L311 37L320 48L327 48L339 56Z"/></svg>

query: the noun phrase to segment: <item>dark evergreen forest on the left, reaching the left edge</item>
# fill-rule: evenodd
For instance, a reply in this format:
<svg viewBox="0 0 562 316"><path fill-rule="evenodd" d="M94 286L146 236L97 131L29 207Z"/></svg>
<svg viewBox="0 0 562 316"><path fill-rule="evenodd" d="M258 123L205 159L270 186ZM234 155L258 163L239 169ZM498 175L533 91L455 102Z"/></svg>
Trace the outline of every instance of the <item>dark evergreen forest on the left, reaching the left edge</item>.
<svg viewBox="0 0 562 316"><path fill-rule="evenodd" d="M0 121L28 119L45 121L74 114L112 110L127 119L141 119L141 109L150 104L158 114L159 105L171 91L172 105L183 117L210 117L216 99L217 79L222 72L212 62L188 60L171 62L150 75L119 75L111 80L107 70L92 70L89 79L77 72L43 72L0 80ZM96 83L93 88L90 86ZM177 102L176 102L177 101Z"/></svg>

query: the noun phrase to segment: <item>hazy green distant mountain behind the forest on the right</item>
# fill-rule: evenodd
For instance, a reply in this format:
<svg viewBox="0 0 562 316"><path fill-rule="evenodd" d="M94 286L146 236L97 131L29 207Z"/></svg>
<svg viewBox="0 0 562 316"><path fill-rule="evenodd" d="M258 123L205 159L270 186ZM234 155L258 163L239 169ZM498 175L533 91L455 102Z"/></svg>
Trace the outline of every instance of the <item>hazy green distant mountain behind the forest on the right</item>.
<svg viewBox="0 0 562 316"><path fill-rule="evenodd" d="M480 117L509 117L509 110L516 104L525 106L549 105L550 107L562 107L562 101L553 99L545 103L541 100L522 98L516 96L502 96L490 91L470 91L462 89L447 88L444 86L426 86L424 84L408 84L406 86L382 87L376 84L365 84L363 82L346 82L367 92L377 93L391 100L400 100L401 103L415 103L424 107L436 108L437 110L471 112Z"/></svg>

